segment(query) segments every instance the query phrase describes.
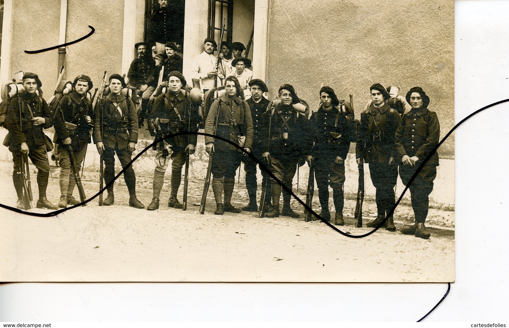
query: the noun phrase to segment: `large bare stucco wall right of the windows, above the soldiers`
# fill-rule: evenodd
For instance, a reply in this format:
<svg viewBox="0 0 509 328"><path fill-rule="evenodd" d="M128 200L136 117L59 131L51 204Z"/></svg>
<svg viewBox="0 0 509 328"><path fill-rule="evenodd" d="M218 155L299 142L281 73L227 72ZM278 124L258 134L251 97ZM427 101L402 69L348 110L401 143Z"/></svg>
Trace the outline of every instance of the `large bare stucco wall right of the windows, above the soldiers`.
<svg viewBox="0 0 509 328"><path fill-rule="evenodd" d="M375 82L403 95L421 86L444 136L454 125L454 2L270 0L266 80L271 97L291 83L313 110L322 85L353 93L356 117ZM454 135L439 153L454 155Z"/></svg>

